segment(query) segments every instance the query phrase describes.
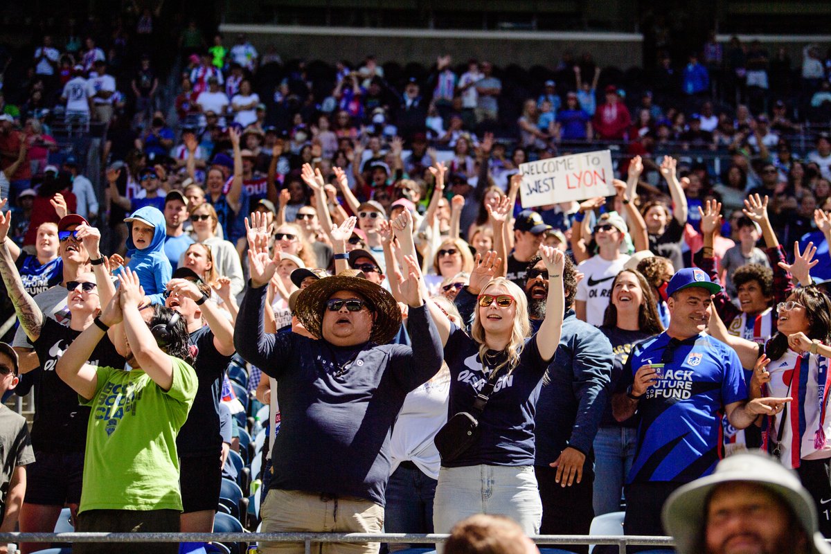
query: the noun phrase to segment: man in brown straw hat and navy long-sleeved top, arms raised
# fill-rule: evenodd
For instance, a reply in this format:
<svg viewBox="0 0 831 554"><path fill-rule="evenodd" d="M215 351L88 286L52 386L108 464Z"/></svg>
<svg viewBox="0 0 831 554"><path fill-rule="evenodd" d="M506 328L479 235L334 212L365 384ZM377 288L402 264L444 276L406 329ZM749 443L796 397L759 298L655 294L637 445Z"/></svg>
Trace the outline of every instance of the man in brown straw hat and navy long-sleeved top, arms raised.
<svg viewBox="0 0 831 554"><path fill-rule="evenodd" d="M246 227L251 282L234 343L245 360L277 380L283 416L262 507L263 532L381 532L392 424L407 393L441 367L441 341L420 297L420 272L416 267L406 279L396 276L410 306L411 347L387 344L401 328L392 295L344 275L313 282L297 297L295 315L317 340L266 334L266 285L280 258L268 254L270 226L262 214L252 213ZM351 229L333 233L333 239L343 240ZM299 553L303 545L260 549ZM350 554L377 549L377 543L328 548Z"/></svg>

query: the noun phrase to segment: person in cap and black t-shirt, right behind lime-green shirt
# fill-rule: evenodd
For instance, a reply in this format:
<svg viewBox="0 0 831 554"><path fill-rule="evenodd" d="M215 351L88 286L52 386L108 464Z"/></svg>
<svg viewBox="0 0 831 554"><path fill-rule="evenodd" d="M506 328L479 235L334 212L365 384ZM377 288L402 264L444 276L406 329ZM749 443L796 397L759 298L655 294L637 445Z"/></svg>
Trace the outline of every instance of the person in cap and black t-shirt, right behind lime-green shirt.
<svg viewBox="0 0 831 554"><path fill-rule="evenodd" d="M165 306L178 311L188 327L199 379L194 404L176 437L182 532L213 530L222 484L219 397L223 375L234 355L234 327L219 306L209 300L210 295L209 285L189 267L173 272L165 292Z"/></svg>

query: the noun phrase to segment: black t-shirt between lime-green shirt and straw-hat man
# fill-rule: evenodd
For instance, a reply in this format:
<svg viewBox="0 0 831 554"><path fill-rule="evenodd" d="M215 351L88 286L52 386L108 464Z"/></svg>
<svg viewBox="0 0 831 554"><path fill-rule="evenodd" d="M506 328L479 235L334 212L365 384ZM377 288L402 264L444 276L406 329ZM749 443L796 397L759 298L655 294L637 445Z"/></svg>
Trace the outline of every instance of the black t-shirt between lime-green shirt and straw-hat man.
<svg viewBox="0 0 831 554"><path fill-rule="evenodd" d="M219 433L219 396L222 378L228 370L231 356L221 355L214 346L214 332L204 326L190 333L190 345L196 348L194 370L199 378L194 404L188 419L176 437L180 457L219 453L222 435Z"/></svg>

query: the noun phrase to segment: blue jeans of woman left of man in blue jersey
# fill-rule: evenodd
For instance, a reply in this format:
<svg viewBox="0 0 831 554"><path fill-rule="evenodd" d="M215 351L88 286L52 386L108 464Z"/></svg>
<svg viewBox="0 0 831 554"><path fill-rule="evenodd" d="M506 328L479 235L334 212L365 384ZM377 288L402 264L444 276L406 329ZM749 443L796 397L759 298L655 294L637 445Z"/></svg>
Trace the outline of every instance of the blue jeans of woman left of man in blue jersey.
<svg viewBox="0 0 831 554"><path fill-rule="evenodd" d="M594 438L594 515L618 512L637 448L637 429L601 427Z"/></svg>

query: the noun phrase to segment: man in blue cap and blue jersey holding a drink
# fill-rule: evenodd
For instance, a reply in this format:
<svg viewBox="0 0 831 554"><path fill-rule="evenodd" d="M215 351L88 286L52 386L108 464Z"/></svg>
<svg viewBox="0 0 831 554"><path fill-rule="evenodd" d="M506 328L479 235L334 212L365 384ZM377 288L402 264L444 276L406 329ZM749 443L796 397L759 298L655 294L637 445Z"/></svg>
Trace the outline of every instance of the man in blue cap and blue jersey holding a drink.
<svg viewBox="0 0 831 554"><path fill-rule="evenodd" d="M670 325L632 349L612 396L624 421L637 412L637 451L625 490L627 535L663 535L658 513L685 483L713 472L720 457L721 414L745 429L777 414L790 399L747 400L739 356L704 332L720 286L685 268L666 287ZM642 550L642 549L641 549Z"/></svg>

